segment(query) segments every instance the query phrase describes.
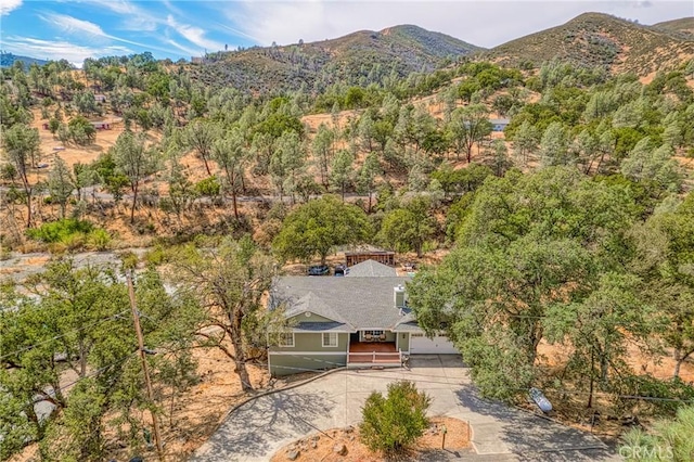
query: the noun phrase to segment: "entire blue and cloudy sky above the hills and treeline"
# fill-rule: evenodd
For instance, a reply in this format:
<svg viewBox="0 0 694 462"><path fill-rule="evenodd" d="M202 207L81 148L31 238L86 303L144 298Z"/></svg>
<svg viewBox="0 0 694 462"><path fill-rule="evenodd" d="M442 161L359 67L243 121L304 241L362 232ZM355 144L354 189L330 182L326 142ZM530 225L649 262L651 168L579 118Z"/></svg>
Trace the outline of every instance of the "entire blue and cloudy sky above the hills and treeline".
<svg viewBox="0 0 694 462"><path fill-rule="evenodd" d="M414 24L491 48L595 11L655 24L694 16L693 0L0 0L0 49L38 59L205 52L336 38Z"/></svg>

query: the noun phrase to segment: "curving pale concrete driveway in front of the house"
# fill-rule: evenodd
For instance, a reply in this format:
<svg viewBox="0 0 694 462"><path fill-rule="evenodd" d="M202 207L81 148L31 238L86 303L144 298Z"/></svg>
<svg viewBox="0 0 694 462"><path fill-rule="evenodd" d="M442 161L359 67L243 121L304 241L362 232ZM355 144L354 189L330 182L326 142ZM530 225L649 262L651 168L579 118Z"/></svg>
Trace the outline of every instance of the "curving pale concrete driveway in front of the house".
<svg viewBox="0 0 694 462"><path fill-rule="evenodd" d="M374 390L397 380L415 382L432 397L430 415L472 426L473 449L441 460L619 461L597 438L540 416L479 399L459 356L410 359L410 370L347 370L255 399L232 413L192 461L268 461L281 447L320 431L355 425Z"/></svg>

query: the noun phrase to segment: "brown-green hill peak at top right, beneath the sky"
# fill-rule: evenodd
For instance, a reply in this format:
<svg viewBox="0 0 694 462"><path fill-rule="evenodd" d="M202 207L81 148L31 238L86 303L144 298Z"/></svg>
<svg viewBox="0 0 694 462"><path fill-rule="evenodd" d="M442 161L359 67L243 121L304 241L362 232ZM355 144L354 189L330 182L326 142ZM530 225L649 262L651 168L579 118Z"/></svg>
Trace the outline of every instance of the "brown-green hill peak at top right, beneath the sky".
<svg viewBox="0 0 694 462"><path fill-rule="evenodd" d="M608 14L584 13L483 53L500 63L534 66L556 59L640 76L694 56L694 41L680 30L687 20L644 26Z"/></svg>

